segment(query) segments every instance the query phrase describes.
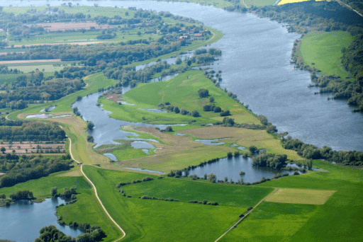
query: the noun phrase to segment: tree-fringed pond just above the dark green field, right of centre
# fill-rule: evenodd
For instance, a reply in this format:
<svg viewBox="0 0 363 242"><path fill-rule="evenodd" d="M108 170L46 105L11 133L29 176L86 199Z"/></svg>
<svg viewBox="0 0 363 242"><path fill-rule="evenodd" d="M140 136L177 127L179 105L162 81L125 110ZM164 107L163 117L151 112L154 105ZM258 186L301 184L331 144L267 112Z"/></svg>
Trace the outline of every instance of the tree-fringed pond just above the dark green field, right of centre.
<svg viewBox="0 0 363 242"><path fill-rule="evenodd" d="M240 175L240 171L244 171L245 175ZM262 177L273 178L274 175L286 173L286 171L252 166L252 159L250 157L243 159L242 156L233 156L230 159L226 157L214 163L198 166L192 169L189 175L198 175L201 178L204 174L208 175L210 173L215 174L217 180L224 180L227 177L228 181L232 178L234 182L237 182L240 178L243 178L245 183L254 183L255 181L261 180ZM289 175L292 173L290 171Z"/></svg>

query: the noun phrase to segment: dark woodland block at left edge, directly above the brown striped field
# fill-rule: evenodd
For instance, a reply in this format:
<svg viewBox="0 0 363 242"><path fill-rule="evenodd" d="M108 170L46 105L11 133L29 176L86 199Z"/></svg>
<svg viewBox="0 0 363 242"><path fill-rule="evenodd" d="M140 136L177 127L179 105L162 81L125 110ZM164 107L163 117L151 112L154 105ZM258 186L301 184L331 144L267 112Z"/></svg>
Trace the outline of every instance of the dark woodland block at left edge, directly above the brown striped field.
<svg viewBox="0 0 363 242"><path fill-rule="evenodd" d="M4 126L4 125L8 126ZM66 137L65 131L57 122L1 121L0 139L9 142L60 142Z"/></svg>

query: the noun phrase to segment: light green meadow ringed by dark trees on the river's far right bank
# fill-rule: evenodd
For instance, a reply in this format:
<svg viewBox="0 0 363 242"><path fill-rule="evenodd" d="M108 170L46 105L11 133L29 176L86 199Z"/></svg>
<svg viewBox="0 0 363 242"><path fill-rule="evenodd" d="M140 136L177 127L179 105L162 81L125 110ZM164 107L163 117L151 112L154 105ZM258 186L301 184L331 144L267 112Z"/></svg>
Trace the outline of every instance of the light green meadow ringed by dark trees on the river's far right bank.
<svg viewBox="0 0 363 242"><path fill-rule="evenodd" d="M309 32L301 40L301 54L305 64L320 69L325 75L350 76L340 62L342 47L349 47L352 35L345 31ZM315 63L315 64L312 64Z"/></svg>

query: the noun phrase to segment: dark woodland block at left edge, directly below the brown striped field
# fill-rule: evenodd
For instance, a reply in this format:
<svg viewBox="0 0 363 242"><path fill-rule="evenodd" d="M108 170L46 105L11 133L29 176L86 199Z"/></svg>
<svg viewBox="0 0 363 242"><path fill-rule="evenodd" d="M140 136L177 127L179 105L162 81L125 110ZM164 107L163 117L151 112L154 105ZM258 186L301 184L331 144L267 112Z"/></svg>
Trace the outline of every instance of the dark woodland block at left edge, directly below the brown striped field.
<svg viewBox="0 0 363 242"><path fill-rule="evenodd" d="M0 156L0 172L6 173L0 178L0 188L42 178L58 171L67 171L72 167L71 163L72 160L69 155L43 157L6 154Z"/></svg>

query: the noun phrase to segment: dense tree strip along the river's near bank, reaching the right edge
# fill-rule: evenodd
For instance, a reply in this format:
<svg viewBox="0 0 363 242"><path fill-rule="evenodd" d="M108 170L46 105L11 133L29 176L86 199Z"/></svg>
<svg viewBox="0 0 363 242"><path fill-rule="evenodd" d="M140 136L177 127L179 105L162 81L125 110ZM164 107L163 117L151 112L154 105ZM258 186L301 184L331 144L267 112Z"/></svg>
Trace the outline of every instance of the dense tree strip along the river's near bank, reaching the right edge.
<svg viewBox="0 0 363 242"><path fill-rule="evenodd" d="M363 166L362 151L334 151L329 146L318 148L313 144L304 144L298 139L283 139L285 149L293 149L306 159L325 159L330 162L342 163L345 166Z"/></svg>

